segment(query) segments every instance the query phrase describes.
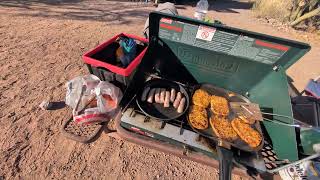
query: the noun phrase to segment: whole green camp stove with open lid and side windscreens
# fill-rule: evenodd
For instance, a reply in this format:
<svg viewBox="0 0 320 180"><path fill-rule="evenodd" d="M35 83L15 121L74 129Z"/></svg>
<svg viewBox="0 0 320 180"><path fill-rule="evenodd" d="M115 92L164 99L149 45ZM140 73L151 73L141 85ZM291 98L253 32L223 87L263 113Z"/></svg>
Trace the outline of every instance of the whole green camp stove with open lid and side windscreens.
<svg viewBox="0 0 320 180"><path fill-rule="evenodd" d="M150 45L124 95L121 128L217 158L209 146L196 140L196 132L183 119L155 125L156 120L139 113L135 94L155 74L186 85L210 83L247 97L259 104L262 112L281 115L266 116L272 121L261 122L267 146L263 153L239 153L240 162L247 161L256 169L273 172L280 168L277 162L299 162L306 157L300 156L300 150L310 150L310 145L319 143L316 138L301 142L308 138L300 139L293 126L285 72L310 50L308 44L159 12L150 14L149 25ZM261 162L261 154L270 153L270 162L275 159L273 164L277 165L262 167L267 161Z"/></svg>

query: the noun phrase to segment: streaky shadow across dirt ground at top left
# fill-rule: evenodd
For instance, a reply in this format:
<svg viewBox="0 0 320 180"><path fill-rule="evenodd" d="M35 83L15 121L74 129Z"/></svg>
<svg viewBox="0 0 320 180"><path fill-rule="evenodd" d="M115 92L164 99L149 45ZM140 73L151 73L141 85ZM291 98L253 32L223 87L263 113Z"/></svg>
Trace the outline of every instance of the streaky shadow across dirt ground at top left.
<svg viewBox="0 0 320 180"><path fill-rule="evenodd" d="M103 0L90 5L83 0L2 0L1 7L18 8L12 12L16 16L102 21L107 24L130 24L133 20L145 20L149 15L142 3Z"/></svg>

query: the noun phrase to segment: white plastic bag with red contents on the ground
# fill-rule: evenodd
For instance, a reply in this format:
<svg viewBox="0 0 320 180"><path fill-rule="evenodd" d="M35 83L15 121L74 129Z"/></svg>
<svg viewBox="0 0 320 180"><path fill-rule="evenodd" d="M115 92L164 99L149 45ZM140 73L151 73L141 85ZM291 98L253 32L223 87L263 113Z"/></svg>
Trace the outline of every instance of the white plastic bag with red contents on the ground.
<svg viewBox="0 0 320 180"><path fill-rule="evenodd" d="M73 109L73 120L78 124L109 120L122 98L118 87L94 75L74 78L66 86L66 104Z"/></svg>

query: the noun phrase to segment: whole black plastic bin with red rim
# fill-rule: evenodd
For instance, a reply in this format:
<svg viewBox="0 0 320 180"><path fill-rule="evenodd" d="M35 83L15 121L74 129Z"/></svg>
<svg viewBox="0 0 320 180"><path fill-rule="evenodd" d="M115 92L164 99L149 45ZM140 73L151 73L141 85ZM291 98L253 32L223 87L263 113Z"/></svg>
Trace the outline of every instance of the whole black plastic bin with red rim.
<svg viewBox="0 0 320 180"><path fill-rule="evenodd" d="M119 47L116 40L121 36L129 37L137 41L136 57L125 68L116 65L116 50ZM82 58L91 74L98 76L102 81L110 81L124 91L134 74L135 68L144 56L147 46L147 39L121 33L86 52Z"/></svg>

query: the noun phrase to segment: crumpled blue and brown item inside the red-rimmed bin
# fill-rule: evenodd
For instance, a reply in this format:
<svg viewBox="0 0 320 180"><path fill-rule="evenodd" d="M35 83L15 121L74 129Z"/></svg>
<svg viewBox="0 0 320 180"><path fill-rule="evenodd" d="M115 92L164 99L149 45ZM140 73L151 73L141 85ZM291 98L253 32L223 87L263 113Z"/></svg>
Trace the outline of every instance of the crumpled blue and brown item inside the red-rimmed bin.
<svg viewBox="0 0 320 180"><path fill-rule="evenodd" d="M119 44L120 47L116 52L117 60L120 61L124 67L127 67L136 56L137 43L134 39L120 37Z"/></svg>

